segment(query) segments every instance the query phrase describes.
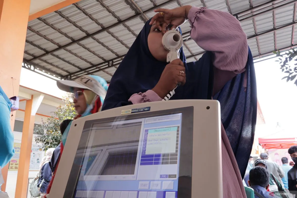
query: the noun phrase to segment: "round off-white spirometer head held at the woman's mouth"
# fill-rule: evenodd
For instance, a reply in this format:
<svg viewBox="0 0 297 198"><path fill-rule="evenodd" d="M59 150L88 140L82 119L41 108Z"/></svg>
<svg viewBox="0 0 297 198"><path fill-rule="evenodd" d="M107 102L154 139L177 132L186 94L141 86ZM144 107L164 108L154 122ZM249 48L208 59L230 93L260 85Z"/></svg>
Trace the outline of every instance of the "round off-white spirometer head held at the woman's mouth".
<svg viewBox="0 0 297 198"><path fill-rule="evenodd" d="M165 49L169 50L167 62L179 58L179 49L183 45L183 38L178 31L170 30L166 32L162 38L162 44Z"/></svg>

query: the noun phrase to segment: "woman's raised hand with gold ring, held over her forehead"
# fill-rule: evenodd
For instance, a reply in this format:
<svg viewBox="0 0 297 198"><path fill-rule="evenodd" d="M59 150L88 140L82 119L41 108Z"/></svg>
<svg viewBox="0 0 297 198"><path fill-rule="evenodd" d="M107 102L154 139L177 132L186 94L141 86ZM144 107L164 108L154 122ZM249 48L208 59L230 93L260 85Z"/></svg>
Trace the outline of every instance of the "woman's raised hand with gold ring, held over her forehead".
<svg viewBox="0 0 297 198"><path fill-rule="evenodd" d="M163 34L165 34L166 28L169 25L172 26L170 27L171 30L176 29L177 27L182 25L188 18L188 13L191 8L191 5L186 5L174 9L155 9L154 12L158 13L151 18L149 24L152 25L156 23L156 28L162 29ZM163 23L162 27L160 26L161 23Z"/></svg>

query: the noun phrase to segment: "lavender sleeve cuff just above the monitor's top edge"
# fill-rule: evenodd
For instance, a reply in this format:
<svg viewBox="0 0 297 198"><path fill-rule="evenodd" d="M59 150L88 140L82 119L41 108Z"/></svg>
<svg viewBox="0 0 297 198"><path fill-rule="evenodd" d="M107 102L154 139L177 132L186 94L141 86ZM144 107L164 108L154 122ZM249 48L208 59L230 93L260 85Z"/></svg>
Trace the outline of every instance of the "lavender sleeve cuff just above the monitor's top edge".
<svg viewBox="0 0 297 198"><path fill-rule="evenodd" d="M133 94L129 101L133 104L139 104L144 102L161 101L162 99L152 90L148 90L145 93Z"/></svg>

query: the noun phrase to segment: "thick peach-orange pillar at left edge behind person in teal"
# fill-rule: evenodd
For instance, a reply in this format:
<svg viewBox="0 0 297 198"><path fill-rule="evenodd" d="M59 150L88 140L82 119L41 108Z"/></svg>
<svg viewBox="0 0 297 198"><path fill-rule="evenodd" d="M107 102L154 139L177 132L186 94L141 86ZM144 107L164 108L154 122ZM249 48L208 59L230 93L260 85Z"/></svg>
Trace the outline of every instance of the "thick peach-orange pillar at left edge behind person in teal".
<svg viewBox="0 0 297 198"><path fill-rule="evenodd" d="M19 91L29 9L30 0L0 0L0 86L8 97L17 96ZM14 118L10 122L12 130ZM3 167L5 183L7 171L8 166Z"/></svg>

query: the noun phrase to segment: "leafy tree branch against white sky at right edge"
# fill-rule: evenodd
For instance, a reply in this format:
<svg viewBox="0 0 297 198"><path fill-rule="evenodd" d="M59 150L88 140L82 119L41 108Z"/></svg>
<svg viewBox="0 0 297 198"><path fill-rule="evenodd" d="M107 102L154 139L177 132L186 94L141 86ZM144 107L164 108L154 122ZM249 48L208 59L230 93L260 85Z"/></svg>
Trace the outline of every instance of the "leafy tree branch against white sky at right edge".
<svg viewBox="0 0 297 198"><path fill-rule="evenodd" d="M282 72L288 74L283 79L287 79L287 82L295 80L294 84L297 86L297 50L292 49L284 54L279 50L273 53L279 57L276 62L279 62Z"/></svg>

